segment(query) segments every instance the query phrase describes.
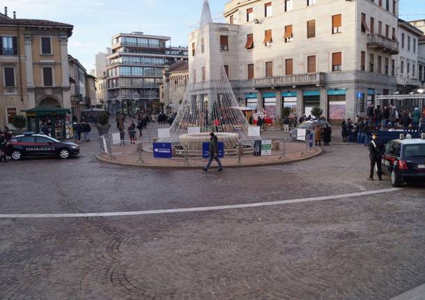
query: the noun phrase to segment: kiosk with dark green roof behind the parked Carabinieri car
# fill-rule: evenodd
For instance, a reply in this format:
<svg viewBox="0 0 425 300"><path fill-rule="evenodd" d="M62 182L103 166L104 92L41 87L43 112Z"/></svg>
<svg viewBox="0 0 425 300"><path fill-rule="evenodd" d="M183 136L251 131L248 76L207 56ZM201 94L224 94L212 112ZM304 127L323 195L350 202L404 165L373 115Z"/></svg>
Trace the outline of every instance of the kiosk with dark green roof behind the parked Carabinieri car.
<svg viewBox="0 0 425 300"><path fill-rule="evenodd" d="M29 132L47 133L55 139L68 139L72 135L69 109L56 107L36 107L27 109L26 123Z"/></svg>

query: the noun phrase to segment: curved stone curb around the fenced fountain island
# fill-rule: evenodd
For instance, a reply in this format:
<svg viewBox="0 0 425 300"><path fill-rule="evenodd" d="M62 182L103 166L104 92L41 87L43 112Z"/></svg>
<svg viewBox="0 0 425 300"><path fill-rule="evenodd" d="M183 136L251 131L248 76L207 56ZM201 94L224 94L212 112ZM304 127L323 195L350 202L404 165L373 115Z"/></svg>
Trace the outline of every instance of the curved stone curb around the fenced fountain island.
<svg viewBox="0 0 425 300"><path fill-rule="evenodd" d="M275 166L275 165L279 165L279 164L292 164L294 162L298 162L298 161L304 161L307 159L311 159L314 157L317 157L321 154L323 154L323 149L322 148L318 148L318 147L314 147L315 149L318 150L318 152L314 153L313 155L309 155L308 157L300 157L297 159L291 159L291 160L287 160L287 161L270 161L270 162L263 162L263 163L259 163L259 164L231 164L229 166L223 166L224 168L252 168L254 166ZM152 164L132 164L132 163L127 163L127 162L121 162L121 161L111 161L108 159L104 159L102 157L100 157L100 155L95 155L95 159L97 159L100 162L104 162L107 164L115 164L118 166L136 166L136 167L142 167L142 168L156 168L156 169L172 169L172 170L183 170L183 169L199 169L202 168L202 166L156 166L156 165L152 165ZM212 167L217 168L217 167Z"/></svg>

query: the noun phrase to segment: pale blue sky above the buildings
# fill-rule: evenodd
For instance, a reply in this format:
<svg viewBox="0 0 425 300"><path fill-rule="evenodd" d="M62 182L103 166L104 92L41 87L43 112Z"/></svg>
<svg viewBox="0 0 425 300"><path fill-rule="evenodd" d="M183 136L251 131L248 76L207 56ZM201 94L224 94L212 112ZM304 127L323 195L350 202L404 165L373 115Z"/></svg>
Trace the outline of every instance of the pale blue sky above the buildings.
<svg viewBox="0 0 425 300"><path fill-rule="evenodd" d="M230 0L210 0L215 22L223 22L224 5ZM302 0L295 0L302 1ZM342 1L342 0L341 0ZM89 72L95 54L111 46L116 33L141 31L171 37L173 46L187 45L187 34L199 22L203 0L3 0L8 15L49 19L74 25L68 52ZM1 8L3 12L3 8ZM425 18L425 0L400 0L402 19Z"/></svg>

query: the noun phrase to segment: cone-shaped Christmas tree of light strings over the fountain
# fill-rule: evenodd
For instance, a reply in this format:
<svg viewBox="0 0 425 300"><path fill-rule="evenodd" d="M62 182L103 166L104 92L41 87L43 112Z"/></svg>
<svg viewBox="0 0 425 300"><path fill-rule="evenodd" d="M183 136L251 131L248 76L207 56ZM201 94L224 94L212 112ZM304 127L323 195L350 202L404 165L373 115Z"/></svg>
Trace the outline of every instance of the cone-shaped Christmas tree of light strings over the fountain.
<svg viewBox="0 0 425 300"><path fill-rule="evenodd" d="M201 127L201 132L231 132L239 134L240 139L247 138L249 124L242 111L235 109L239 104L224 70L217 26L212 23L208 1L203 1L189 82L171 125L172 137L187 134L188 127Z"/></svg>

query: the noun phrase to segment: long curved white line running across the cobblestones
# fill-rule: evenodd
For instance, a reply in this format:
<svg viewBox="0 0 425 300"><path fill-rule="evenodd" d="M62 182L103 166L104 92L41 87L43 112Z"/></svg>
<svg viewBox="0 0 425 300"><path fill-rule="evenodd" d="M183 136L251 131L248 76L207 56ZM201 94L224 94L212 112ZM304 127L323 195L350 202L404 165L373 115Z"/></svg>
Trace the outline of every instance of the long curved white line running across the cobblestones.
<svg viewBox="0 0 425 300"><path fill-rule="evenodd" d="M401 191L402 189L378 189L375 191L361 191L353 194L342 194L334 196L321 196L313 198L300 198L293 200L279 200L269 202L258 202L258 203L246 203L246 204L235 204L235 205L220 205L220 206L206 206L206 207L189 207L189 208L171 208L164 210L141 210L135 212L82 212L76 214L0 214L0 219L12 219L12 218L86 218L96 216L140 216L144 214L172 214L176 212L208 212L214 210L234 210L238 208L249 208L249 207L262 207L270 205L283 205L291 203L303 203L312 201L322 200L336 200L343 198L353 198L361 196L369 196L376 194L391 193L393 191Z"/></svg>

